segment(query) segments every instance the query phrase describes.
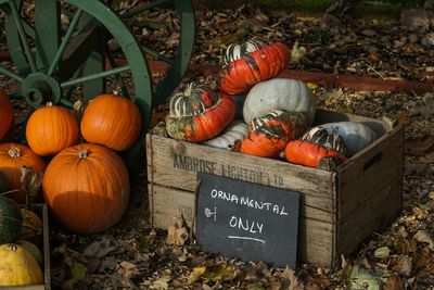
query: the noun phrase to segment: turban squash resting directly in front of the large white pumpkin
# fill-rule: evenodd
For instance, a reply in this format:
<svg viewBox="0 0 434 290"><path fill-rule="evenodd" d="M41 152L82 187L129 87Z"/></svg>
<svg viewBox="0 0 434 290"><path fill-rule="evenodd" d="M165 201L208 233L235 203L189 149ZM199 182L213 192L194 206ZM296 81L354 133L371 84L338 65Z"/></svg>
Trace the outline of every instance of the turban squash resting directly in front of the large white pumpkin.
<svg viewBox="0 0 434 290"><path fill-rule="evenodd" d="M306 129L302 113L275 110L254 118L250 133L240 146L240 152L261 157L279 157L290 140Z"/></svg>

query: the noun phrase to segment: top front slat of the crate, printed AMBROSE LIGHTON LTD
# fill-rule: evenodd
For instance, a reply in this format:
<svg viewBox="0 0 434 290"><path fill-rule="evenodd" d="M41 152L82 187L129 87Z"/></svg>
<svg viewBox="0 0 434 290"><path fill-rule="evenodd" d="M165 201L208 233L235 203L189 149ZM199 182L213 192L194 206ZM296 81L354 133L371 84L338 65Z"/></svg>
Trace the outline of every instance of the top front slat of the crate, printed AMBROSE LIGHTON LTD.
<svg viewBox="0 0 434 290"><path fill-rule="evenodd" d="M200 171L302 191L306 204L332 211L330 192L334 173L155 135L146 136L146 150L152 163L152 173L148 177L150 182L194 191Z"/></svg>

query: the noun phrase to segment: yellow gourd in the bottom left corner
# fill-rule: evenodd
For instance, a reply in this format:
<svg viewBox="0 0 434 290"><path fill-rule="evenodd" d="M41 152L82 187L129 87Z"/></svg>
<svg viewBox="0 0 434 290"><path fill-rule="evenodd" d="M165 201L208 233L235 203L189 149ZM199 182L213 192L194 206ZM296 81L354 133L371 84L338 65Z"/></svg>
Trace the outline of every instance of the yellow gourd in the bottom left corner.
<svg viewBox="0 0 434 290"><path fill-rule="evenodd" d="M26 249L15 243L0 245L0 286L40 285L43 274Z"/></svg>

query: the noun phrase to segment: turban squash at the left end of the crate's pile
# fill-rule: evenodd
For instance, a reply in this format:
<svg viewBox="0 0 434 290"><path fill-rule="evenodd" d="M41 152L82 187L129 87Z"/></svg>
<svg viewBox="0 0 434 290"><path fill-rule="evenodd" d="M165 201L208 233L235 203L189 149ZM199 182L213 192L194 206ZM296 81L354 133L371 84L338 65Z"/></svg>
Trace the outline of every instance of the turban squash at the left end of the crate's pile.
<svg viewBox="0 0 434 290"><path fill-rule="evenodd" d="M203 142L219 135L235 116L235 102L197 83L170 98L166 130L177 140Z"/></svg>

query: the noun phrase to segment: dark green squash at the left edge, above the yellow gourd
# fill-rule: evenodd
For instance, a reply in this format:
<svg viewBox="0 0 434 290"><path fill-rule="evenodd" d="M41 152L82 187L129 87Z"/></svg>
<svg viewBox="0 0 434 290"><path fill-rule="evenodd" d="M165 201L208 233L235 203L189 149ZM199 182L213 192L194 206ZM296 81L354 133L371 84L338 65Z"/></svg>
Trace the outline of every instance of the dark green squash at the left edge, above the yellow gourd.
<svg viewBox="0 0 434 290"><path fill-rule="evenodd" d="M23 227L23 215L18 204L7 197L0 197L0 244L14 242Z"/></svg>

